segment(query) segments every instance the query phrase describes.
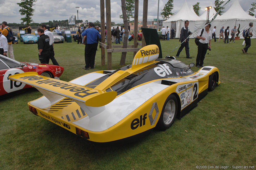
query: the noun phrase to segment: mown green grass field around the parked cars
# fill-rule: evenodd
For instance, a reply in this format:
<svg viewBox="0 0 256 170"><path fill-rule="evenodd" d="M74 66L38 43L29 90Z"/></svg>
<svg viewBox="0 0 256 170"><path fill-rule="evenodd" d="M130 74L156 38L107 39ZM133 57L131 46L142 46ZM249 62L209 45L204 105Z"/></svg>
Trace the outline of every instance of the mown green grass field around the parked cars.
<svg viewBox="0 0 256 170"><path fill-rule="evenodd" d="M256 39L249 54L243 54L243 40L224 44L212 42L204 66L220 70L220 85L198 102L198 106L171 128L154 130L147 137L120 146L95 145L32 114L27 102L41 97L31 88L26 93L0 100L0 169L197 169L196 166L219 166L214 169L256 168ZM129 41L132 44L133 41ZM179 41L162 41L163 56ZM178 60L196 62L197 46L190 39L190 56L185 49ZM14 44L18 61L38 63L37 45ZM83 70L84 45L77 42L54 44L55 58L64 67L61 80L70 81L86 73L106 70L101 66L100 49L94 70ZM170 56L175 56L176 49ZM112 55L112 69L118 69L121 53ZM131 64L133 52L127 53ZM106 57L107 61L107 57ZM51 63L51 61L50 61ZM197 67L192 68L194 71ZM250 168L254 166L254 168Z"/></svg>

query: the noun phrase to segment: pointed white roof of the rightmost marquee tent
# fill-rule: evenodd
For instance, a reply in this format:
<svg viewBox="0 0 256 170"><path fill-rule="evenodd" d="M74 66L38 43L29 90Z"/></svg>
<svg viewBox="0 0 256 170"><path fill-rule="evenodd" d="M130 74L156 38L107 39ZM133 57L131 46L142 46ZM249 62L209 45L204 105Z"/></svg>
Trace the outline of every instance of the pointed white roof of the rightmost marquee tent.
<svg viewBox="0 0 256 170"><path fill-rule="evenodd" d="M254 17L250 16L243 10L238 0L234 0L233 5L224 14L216 17L216 19L229 20L229 19L240 19L240 20L255 20Z"/></svg>

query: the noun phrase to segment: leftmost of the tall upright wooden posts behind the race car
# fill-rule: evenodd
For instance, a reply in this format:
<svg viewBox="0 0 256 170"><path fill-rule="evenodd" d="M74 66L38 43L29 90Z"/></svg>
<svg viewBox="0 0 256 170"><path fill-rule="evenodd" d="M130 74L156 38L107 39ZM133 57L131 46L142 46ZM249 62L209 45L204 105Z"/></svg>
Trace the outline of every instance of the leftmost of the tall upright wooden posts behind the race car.
<svg viewBox="0 0 256 170"><path fill-rule="evenodd" d="M104 0L100 0L100 27L101 27L101 38L100 42L105 44L105 11L104 11ZM103 36L102 36L103 35ZM105 66L105 48L101 48L101 65Z"/></svg>

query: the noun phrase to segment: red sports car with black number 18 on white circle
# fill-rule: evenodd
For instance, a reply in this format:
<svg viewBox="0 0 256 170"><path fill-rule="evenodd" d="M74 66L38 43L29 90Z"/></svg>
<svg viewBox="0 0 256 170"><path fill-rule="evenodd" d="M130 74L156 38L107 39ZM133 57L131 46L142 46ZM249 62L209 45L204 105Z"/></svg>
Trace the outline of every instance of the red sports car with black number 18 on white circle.
<svg viewBox="0 0 256 170"><path fill-rule="evenodd" d="M38 75L59 79L63 70L64 68L61 66L19 62L0 55L0 98L4 98L2 96L4 94L31 87L24 83L9 80L10 75L35 71Z"/></svg>

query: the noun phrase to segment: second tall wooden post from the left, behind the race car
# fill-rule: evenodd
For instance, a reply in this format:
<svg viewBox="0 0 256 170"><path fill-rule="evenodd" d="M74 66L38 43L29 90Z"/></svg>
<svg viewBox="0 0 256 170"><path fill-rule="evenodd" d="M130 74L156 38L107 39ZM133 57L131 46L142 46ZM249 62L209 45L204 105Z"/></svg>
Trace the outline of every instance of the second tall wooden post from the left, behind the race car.
<svg viewBox="0 0 256 170"><path fill-rule="evenodd" d="M106 26L107 26L107 45L108 48L111 48L111 7L110 7L110 0L106 0ZM101 35L105 35L104 33L101 32ZM108 70L112 70L112 53L108 52Z"/></svg>

